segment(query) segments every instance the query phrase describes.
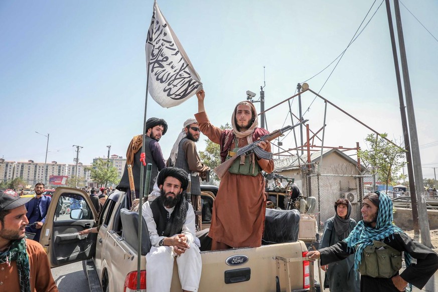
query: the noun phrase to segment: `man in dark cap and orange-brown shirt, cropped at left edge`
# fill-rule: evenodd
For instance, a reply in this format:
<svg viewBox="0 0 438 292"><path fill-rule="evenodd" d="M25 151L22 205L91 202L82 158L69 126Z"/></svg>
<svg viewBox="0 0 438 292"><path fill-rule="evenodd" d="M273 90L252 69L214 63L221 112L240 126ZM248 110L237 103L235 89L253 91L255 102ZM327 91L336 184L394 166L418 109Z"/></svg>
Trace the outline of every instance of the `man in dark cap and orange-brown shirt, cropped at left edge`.
<svg viewBox="0 0 438 292"><path fill-rule="evenodd" d="M31 199L0 190L0 291L58 291L43 247L25 238L25 204Z"/></svg>

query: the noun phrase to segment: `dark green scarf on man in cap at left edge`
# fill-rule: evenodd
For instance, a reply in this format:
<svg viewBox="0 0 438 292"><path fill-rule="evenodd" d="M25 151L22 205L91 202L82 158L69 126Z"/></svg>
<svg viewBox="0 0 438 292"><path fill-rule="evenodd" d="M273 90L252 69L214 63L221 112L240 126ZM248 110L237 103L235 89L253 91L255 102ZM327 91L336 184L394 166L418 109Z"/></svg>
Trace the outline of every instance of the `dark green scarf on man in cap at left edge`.
<svg viewBox="0 0 438 292"><path fill-rule="evenodd" d="M17 262L20 292L31 291L29 256L26 248L26 239L17 239L12 242L8 250L0 253L0 263L6 262L10 266L12 261Z"/></svg>

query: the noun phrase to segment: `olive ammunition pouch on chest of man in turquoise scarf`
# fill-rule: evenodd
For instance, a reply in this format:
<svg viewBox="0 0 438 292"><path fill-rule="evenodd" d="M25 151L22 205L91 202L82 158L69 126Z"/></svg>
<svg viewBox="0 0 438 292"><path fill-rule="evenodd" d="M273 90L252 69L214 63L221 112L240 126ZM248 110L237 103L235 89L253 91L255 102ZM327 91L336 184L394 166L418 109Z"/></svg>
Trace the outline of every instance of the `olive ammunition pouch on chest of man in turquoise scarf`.
<svg viewBox="0 0 438 292"><path fill-rule="evenodd" d="M390 278L400 268L401 252L381 241L373 240L373 244L363 250L359 272L374 278Z"/></svg>

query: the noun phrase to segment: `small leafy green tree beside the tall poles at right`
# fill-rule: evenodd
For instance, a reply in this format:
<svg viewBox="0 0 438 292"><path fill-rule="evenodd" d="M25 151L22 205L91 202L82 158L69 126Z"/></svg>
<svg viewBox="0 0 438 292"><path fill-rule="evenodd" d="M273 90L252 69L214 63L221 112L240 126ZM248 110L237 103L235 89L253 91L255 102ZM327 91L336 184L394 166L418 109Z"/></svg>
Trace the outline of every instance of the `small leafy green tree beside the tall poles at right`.
<svg viewBox="0 0 438 292"><path fill-rule="evenodd" d="M406 163L404 161L405 150L388 142L384 139L386 137L386 133L380 134L380 137L369 134L365 138L369 149L359 150L357 155L370 165L371 174L378 174L380 180L385 182L386 192L388 192L389 184L405 177L400 174L400 170Z"/></svg>

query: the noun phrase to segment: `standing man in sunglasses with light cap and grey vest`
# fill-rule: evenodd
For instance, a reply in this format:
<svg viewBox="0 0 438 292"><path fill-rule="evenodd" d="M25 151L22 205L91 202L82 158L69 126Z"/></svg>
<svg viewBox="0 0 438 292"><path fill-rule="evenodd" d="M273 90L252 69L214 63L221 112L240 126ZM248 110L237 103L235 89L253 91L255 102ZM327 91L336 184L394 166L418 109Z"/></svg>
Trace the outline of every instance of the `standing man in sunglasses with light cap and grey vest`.
<svg viewBox="0 0 438 292"><path fill-rule="evenodd" d="M206 172L210 170L208 166L201 163L201 159L196 150L195 142L199 140L200 134L201 132L199 131L196 119L189 118L186 120L172 148L170 158L167 161L168 167L175 166L190 174L192 205L195 210L198 211L196 215L197 230L202 229L201 178L205 180Z"/></svg>

